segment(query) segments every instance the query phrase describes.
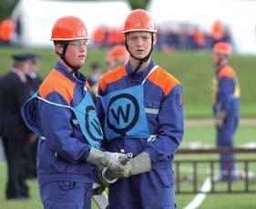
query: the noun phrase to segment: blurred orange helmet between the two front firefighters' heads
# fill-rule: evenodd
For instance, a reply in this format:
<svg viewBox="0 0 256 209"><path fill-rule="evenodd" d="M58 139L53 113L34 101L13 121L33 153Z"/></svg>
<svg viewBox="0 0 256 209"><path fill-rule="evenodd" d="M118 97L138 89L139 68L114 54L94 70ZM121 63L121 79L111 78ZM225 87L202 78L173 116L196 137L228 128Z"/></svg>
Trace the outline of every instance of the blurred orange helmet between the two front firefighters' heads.
<svg viewBox="0 0 256 209"><path fill-rule="evenodd" d="M110 62L115 59L128 59L128 51L124 45L116 45L108 52L106 61Z"/></svg>

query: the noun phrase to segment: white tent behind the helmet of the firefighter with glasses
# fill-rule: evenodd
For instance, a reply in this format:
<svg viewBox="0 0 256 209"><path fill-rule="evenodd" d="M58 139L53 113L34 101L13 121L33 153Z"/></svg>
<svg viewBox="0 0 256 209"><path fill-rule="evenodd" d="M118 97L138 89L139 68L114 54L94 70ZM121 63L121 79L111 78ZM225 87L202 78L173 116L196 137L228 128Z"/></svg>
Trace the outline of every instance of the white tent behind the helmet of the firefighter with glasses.
<svg viewBox="0 0 256 209"><path fill-rule="evenodd" d="M122 27L130 12L127 1L20 0L12 19L18 27L18 43L28 47L50 46L52 26L64 15L76 15L87 25L88 33L99 25Z"/></svg>

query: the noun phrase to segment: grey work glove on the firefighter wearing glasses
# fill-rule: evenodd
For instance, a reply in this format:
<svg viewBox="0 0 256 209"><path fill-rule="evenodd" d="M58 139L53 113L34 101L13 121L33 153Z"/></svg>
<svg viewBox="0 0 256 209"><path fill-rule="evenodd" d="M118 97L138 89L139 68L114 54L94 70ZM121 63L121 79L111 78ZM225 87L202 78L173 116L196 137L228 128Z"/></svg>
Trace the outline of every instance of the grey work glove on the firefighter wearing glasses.
<svg viewBox="0 0 256 209"><path fill-rule="evenodd" d="M91 147L87 156L87 162L103 167L109 167L111 165L115 169L120 166L120 161L124 158L126 158L126 154L102 152Z"/></svg>

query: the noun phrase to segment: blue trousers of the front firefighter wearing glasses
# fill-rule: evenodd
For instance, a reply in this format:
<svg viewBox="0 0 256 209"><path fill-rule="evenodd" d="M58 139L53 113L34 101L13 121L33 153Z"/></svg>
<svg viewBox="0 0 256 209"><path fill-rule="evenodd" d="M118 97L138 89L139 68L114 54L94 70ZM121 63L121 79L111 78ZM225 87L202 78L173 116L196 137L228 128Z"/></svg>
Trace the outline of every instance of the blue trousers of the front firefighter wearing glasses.
<svg viewBox="0 0 256 209"><path fill-rule="evenodd" d="M48 182L40 184L45 209L91 208L92 184L80 182Z"/></svg>

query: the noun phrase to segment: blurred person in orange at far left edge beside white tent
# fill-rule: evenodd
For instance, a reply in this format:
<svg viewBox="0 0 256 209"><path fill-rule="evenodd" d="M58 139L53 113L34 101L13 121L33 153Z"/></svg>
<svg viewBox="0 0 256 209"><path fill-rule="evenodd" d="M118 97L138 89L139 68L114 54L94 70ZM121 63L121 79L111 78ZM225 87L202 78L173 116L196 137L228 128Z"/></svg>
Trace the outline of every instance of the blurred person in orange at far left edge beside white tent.
<svg viewBox="0 0 256 209"><path fill-rule="evenodd" d="M0 44L11 45L15 35L15 25L9 18L0 22Z"/></svg>

